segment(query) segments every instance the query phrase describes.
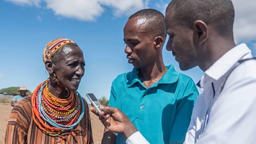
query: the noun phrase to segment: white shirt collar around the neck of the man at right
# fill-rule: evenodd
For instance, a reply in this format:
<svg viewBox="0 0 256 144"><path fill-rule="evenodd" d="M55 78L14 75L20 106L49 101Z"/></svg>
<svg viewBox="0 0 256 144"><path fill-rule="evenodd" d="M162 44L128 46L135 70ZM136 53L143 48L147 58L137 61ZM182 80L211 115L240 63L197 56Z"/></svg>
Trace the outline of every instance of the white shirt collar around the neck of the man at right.
<svg viewBox="0 0 256 144"><path fill-rule="evenodd" d="M214 80L220 79L220 77L225 75L238 60L250 52L246 44L237 45L213 63L213 65L205 71L205 75Z"/></svg>

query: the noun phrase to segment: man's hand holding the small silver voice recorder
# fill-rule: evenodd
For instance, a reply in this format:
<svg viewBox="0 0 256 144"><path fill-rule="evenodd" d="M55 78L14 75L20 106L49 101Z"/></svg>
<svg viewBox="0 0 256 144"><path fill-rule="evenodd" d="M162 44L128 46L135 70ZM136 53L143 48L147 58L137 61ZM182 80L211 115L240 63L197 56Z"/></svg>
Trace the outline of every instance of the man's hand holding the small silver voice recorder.
<svg viewBox="0 0 256 144"><path fill-rule="evenodd" d="M129 118L118 108L106 106L100 107L100 109L103 110L100 114L94 107L91 107L90 111L99 116L100 121L109 131L122 133L125 138L138 131Z"/></svg>

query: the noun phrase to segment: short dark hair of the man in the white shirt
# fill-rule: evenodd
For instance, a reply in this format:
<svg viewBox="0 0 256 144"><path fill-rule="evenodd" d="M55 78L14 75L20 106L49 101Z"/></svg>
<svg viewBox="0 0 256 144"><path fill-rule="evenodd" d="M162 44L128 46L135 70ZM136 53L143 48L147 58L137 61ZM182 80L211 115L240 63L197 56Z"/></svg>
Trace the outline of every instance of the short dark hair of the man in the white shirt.
<svg viewBox="0 0 256 144"><path fill-rule="evenodd" d="M214 26L223 37L233 36L234 6L231 0L172 0L167 10L174 10L173 21L193 28L195 20Z"/></svg>

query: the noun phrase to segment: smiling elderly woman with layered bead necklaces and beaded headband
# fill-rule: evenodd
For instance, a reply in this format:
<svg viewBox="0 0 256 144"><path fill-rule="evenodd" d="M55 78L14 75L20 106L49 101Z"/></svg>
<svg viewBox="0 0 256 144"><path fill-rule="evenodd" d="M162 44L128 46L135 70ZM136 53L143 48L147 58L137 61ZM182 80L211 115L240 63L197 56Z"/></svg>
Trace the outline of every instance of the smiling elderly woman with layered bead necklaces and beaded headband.
<svg viewBox="0 0 256 144"><path fill-rule="evenodd" d="M49 79L15 104L5 143L93 143L88 104L76 91L84 75L84 56L67 38L44 49Z"/></svg>

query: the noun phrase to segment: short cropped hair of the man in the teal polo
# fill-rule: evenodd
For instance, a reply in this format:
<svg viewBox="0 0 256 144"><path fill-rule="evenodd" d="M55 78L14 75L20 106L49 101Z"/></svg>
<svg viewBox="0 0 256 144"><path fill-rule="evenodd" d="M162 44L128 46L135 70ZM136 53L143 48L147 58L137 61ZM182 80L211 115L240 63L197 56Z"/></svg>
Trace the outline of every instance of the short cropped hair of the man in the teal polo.
<svg viewBox="0 0 256 144"><path fill-rule="evenodd" d="M134 17L141 17L147 19L147 25L145 26L145 28L143 28L143 30L145 30L152 36L162 36L165 40L166 29L163 13L152 8L147 8L132 14L129 19L132 19Z"/></svg>

